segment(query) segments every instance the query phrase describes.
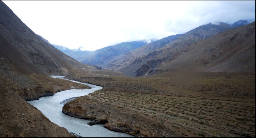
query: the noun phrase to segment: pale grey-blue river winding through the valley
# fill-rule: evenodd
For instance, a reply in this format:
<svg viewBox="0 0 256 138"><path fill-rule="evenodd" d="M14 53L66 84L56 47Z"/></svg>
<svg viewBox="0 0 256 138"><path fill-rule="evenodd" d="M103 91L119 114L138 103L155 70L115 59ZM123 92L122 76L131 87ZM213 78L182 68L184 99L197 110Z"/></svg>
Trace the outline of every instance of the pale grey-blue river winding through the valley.
<svg viewBox="0 0 256 138"><path fill-rule="evenodd" d="M52 76L54 78L64 79L65 76ZM66 79L69 80L69 79ZM73 81L73 80L69 80ZM78 81L73 81L81 83ZM62 107L65 104L66 99L72 99L73 97L81 97L93 93L94 91L102 89L100 86L91 85L88 83L81 83L91 87L92 89L84 90L67 90L55 93L53 96L41 97L39 100L28 101L38 110L44 114L50 121L54 122L58 126L67 128L69 132L74 132L82 137L134 137L129 134L110 131L103 127L103 124L96 124L90 126L87 124L90 120L80 119L65 115L62 111ZM67 100L66 100L67 101Z"/></svg>

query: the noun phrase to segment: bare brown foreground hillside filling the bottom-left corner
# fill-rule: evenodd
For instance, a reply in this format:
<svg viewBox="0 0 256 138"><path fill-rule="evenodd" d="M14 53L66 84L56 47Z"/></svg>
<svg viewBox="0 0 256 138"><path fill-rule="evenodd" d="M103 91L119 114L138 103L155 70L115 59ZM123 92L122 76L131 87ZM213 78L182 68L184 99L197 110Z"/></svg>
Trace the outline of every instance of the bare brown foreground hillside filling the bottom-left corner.
<svg viewBox="0 0 256 138"><path fill-rule="evenodd" d="M72 137L0 81L0 137Z"/></svg>

